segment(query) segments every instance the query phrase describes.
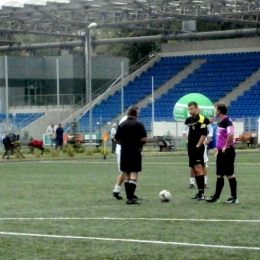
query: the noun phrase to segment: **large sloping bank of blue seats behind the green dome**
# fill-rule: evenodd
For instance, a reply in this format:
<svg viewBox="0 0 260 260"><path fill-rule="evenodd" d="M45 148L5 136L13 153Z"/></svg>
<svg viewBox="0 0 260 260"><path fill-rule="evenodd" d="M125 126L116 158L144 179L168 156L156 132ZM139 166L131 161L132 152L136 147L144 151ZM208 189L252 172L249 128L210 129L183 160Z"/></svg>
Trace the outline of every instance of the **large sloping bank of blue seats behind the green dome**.
<svg viewBox="0 0 260 260"><path fill-rule="evenodd" d="M151 77L154 77L154 90L156 91L194 59L204 59L205 62L184 77L180 83L171 86L167 93L155 98L155 121L173 121L174 104L188 93L201 93L213 102L218 101L238 87L260 67L260 52L162 57L147 71L124 86L124 108L126 109L133 103L138 103L151 94ZM233 118L258 117L260 114L259 98L260 81L250 90L245 91L244 95L231 102L229 115ZM147 106L142 107L140 112L140 120L145 124L148 131L151 130L151 101ZM121 91L118 90L93 107L93 130L95 131L97 127L96 122L101 124L102 122L110 122L120 113ZM81 115L78 120L79 131L89 131L88 118L88 112Z"/></svg>

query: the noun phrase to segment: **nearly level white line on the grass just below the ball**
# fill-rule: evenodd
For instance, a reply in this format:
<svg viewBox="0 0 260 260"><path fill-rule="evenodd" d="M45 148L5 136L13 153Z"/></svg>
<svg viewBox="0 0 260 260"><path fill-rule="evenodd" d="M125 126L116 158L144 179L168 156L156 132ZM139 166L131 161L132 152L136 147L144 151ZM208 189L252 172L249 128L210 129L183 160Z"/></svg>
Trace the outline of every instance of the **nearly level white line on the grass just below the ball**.
<svg viewBox="0 0 260 260"><path fill-rule="evenodd" d="M195 218L0 218L0 221L5 220L111 220L111 221L184 221L184 222L237 222L237 223L260 223L259 219L195 219Z"/></svg>

